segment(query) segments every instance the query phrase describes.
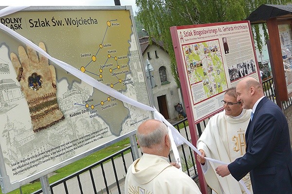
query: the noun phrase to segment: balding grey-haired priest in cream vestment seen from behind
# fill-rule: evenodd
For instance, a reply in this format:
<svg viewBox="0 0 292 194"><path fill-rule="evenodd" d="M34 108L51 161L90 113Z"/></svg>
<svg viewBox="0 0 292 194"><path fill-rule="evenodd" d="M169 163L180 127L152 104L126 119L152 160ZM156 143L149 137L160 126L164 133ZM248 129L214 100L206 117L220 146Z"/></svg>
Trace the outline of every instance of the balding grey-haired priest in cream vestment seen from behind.
<svg viewBox="0 0 292 194"><path fill-rule="evenodd" d="M163 122L143 122L136 136L143 156L128 168L125 194L201 194L192 178L167 161L171 142Z"/></svg>

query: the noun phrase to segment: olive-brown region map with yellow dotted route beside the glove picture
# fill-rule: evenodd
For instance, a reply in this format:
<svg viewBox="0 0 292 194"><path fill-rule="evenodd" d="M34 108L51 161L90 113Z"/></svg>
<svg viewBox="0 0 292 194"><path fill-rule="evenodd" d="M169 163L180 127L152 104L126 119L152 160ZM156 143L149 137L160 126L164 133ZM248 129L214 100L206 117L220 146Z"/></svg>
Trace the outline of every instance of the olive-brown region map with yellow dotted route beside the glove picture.
<svg viewBox="0 0 292 194"><path fill-rule="evenodd" d="M91 40L93 46L89 49L86 44L79 45L78 50L82 54L76 56L75 62L72 63L74 67L119 92L127 91L128 84L134 83L128 65L128 42L132 33L130 26L129 20L121 21L116 18L100 22L100 35ZM87 39L91 39L90 36ZM60 71L58 75L62 75L62 72L64 71ZM72 88L75 81L80 82L74 76L63 75L58 78L59 81L66 80L69 88ZM72 104L75 113L79 113L78 107L91 113L91 119L102 118L109 125L111 133L116 136L120 135L123 123L129 118L129 110L122 101L95 89L90 96L84 96Z"/></svg>

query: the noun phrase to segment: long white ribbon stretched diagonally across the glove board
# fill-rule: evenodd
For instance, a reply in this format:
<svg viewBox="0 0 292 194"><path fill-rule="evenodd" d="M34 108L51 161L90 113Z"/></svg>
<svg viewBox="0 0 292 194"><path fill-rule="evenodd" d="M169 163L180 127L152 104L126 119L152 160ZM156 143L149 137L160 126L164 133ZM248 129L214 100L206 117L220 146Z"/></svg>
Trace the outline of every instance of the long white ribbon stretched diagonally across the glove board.
<svg viewBox="0 0 292 194"><path fill-rule="evenodd" d="M18 12L22 9L25 9L29 6L8 6L5 7L3 9L0 10L0 17L3 16L7 16L9 14L13 14L15 12ZM69 65L63 61L60 61L58 59L55 59L54 57L52 57L51 55L49 55L47 52L45 52L43 49L40 49L36 44L34 44L33 42L31 42L30 40L28 40L27 38L23 37L22 35L18 34L17 32L11 30L10 28L6 27L5 25L3 25L2 23L0 23L0 29L9 33L10 35L14 36L16 39L18 39L19 41L21 41L22 43L28 45L29 47L35 49L38 53L42 54L43 56L47 57L49 60L51 60L52 62L54 62L56 65L59 65L61 68L63 68L64 70L70 72L72 75L74 75L75 77L79 78L80 80L88 83L89 85L91 85L92 87L102 91L103 93L106 93L108 95L110 95L111 97L115 97L123 102L126 102L128 104L131 104L135 107L147 110L147 111L152 111L154 112L154 118L163 121L167 126L169 130L169 136L171 137L170 140L172 141L172 150L174 153L174 157L177 161L181 162L180 156L179 156L179 152L177 149L177 146L182 145L183 143L185 143L186 145L190 146L197 154L201 155L201 152L194 146L192 145L189 141L187 141L179 132L177 129L175 129L173 127L173 125L171 125L165 118L164 116L159 113L155 108L152 108L150 106L147 106L141 102L135 101L129 97L126 97L125 95L121 94L120 92L112 89L111 87L93 79L92 77L90 77L89 75L82 73L80 70L76 69L75 67L73 67L72 65ZM175 142L175 144L173 144L173 142ZM177 146L176 146L177 145ZM218 160L214 160L214 159L210 159L210 158L206 158L206 160L211 161L211 162L216 162L219 164L227 164L225 162L221 162ZM242 180L239 181L239 183L244 187L245 191L247 194L250 194L249 190L246 188L244 182Z"/></svg>

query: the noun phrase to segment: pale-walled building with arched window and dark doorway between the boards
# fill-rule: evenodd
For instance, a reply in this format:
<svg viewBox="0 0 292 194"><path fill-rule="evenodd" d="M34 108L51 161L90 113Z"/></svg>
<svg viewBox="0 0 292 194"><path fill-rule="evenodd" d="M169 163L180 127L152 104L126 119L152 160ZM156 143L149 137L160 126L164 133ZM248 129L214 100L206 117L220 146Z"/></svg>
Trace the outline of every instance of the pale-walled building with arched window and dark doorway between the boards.
<svg viewBox="0 0 292 194"><path fill-rule="evenodd" d="M153 66L153 75L155 86L152 88L154 106L164 115L165 119L175 119L178 113L175 105L179 102L183 104L180 88L171 74L170 57L164 50L163 42L152 39L149 44L148 37L140 38L140 46L143 54L143 62L146 64L148 59Z"/></svg>

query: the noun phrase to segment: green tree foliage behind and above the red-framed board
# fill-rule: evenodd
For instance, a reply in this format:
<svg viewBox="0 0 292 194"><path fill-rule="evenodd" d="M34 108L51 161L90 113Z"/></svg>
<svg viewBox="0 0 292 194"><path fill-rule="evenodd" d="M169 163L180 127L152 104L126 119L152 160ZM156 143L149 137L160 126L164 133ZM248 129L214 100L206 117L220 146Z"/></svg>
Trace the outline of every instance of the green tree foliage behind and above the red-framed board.
<svg viewBox="0 0 292 194"><path fill-rule="evenodd" d="M136 5L139 8L138 19L149 37L164 42L164 49L171 58L172 75L180 87L169 27L244 20L261 4L289 2L291 0L136 0ZM266 25L262 25L262 29L267 39ZM256 47L261 51L263 43L259 26L254 25L252 30Z"/></svg>

